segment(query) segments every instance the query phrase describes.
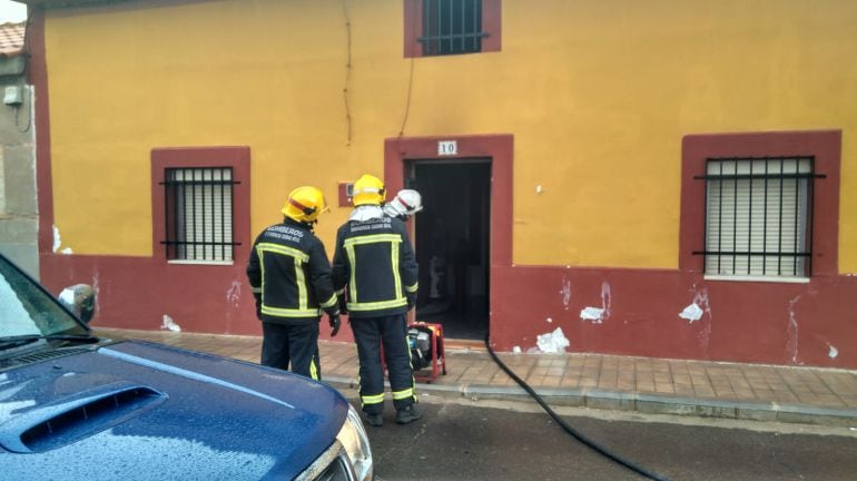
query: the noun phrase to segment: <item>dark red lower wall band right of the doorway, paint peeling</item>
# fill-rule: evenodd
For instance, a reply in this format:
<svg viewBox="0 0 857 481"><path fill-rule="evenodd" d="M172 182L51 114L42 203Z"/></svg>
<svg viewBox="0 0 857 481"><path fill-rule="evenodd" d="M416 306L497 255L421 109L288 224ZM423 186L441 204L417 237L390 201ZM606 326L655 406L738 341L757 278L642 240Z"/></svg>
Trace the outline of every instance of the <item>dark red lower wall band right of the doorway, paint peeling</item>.
<svg viewBox="0 0 857 481"><path fill-rule="evenodd" d="M493 269L491 341L499 351L525 352L561 327L568 352L857 367L857 277L787 284L712 282L679 271ZM680 317L695 302L702 317ZM581 320L585 307L607 315Z"/></svg>

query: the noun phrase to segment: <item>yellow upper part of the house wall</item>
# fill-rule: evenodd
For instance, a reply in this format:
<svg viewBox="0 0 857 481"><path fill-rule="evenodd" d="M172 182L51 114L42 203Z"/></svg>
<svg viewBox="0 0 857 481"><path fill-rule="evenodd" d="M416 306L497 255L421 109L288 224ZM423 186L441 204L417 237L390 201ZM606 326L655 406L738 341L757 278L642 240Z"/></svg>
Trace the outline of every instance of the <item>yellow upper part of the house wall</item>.
<svg viewBox="0 0 857 481"><path fill-rule="evenodd" d="M254 235L294 186L335 203L337 180L383 174L411 82L405 136L514 135L516 264L676 268L682 136L841 129L857 273L857 2L504 0L501 52L416 59L413 78L402 2L345 4L351 143L342 1L50 12L63 247L151 254L151 147L250 146ZM328 246L347 212L322 218Z"/></svg>

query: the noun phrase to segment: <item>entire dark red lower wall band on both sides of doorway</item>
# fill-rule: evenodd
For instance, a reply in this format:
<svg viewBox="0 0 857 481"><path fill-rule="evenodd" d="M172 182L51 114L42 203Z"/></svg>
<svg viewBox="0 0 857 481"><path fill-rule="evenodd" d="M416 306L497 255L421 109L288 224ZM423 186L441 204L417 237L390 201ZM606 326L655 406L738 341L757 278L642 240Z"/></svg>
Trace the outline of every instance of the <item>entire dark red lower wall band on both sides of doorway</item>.
<svg viewBox="0 0 857 481"><path fill-rule="evenodd" d="M51 292L76 283L97 288L93 326L157 331L166 314L184 332L262 333L240 263L55 254L41 263ZM561 327L568 352L857 369L854 276L784 284L657 269L494 266L492 274L490 328L499 351L528 351L538 335ZM679 317L695 302L702 317ZM585 307L603 308L604 318L581 320ZM321 331L329 338L325 324ZM336 341L352 341L351 330Z"/></svg>

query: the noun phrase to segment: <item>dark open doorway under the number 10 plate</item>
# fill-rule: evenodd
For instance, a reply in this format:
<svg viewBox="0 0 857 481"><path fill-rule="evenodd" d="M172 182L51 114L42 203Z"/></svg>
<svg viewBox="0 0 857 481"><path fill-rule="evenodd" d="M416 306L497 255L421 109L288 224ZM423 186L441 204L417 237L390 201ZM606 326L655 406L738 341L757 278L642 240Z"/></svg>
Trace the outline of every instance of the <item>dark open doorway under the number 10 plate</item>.
<svg viewBox="0 0 857 481"><path fill-rule="evenodd" d="M415 218L416 320L450 338L482 340L489 323L491 159L411 160L405 185L423 196Z"/></svg>

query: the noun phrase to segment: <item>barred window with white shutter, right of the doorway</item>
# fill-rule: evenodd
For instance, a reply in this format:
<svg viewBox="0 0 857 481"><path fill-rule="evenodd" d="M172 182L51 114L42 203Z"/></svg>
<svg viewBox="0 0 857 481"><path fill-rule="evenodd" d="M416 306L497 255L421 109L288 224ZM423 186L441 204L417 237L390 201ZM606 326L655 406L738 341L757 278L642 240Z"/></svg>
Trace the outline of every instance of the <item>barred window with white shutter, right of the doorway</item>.
<svg viewBox="0 0 857 481"><path fill-rule="evenodd" d="M706 159L705 273L808 277L815 157Z"/></svg>

